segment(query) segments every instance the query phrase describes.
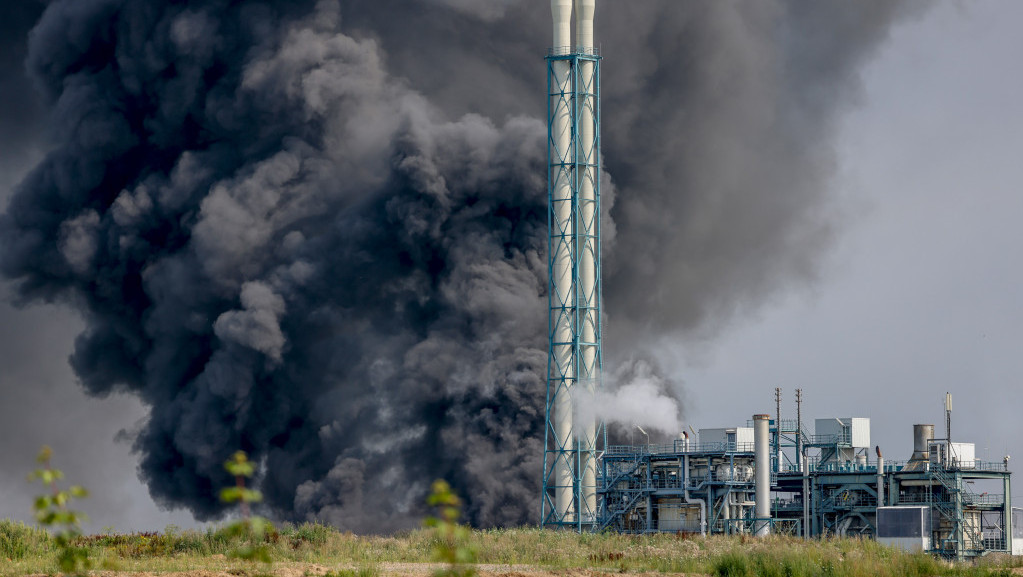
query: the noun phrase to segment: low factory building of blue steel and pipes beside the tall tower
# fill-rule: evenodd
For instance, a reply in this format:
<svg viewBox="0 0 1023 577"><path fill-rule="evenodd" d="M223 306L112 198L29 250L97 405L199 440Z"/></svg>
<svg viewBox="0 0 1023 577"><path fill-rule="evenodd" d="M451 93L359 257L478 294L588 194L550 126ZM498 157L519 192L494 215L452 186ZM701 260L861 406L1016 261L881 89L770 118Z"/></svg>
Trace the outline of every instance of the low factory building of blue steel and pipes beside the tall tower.
<svg viewBox="0 0 1023 577"><path fill-rule="evenodd" d="M871 451L861 417L818 418L809 430L754 415L746 427L669 444L611 445L601 459L598 529L863 536L960 560L1023 553L1008 457L980 460L974 444L936 438L933 425L915 425L913 435L905 460Z"/></svg>

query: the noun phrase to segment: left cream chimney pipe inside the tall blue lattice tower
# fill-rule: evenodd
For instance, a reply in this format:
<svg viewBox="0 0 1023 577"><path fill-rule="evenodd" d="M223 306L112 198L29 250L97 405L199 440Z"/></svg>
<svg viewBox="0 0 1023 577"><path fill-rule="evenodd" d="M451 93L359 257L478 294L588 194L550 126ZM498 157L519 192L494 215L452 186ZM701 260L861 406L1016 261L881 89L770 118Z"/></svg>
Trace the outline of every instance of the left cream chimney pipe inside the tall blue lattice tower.
<svg viewBox="0 0 1023 577"><path fill-rule="evenodd" d="M572 0L551 0L553 17L553 47L563 53L572 43ZM570 49L569 49L570 51ZM568 60L550 62L551 118L550 147L551 183L551 374L555 389L554 436L558 452L553 464L554 508L558 518L566 523L576 520L573 493L575 489L575 459L573 443L572 388L575 382L573 354L575 287L573 282L573 218L572 170L572 71Z"/></svg>

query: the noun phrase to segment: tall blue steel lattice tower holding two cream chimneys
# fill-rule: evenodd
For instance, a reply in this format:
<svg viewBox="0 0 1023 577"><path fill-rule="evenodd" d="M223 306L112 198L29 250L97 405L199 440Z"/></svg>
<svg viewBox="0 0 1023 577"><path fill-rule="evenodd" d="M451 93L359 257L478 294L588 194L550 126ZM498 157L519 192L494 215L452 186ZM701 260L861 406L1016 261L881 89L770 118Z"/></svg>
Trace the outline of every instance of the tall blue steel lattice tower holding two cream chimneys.
<svg viewBox="0 0 1023 577"><path fill-rule="evenodd" d="M576 45L571 45L572 10ZM606 433L594 393L602 381L601 57L595 0L551 0L547 54L549 284L543 527L595 528L597 459Z"/></svg>

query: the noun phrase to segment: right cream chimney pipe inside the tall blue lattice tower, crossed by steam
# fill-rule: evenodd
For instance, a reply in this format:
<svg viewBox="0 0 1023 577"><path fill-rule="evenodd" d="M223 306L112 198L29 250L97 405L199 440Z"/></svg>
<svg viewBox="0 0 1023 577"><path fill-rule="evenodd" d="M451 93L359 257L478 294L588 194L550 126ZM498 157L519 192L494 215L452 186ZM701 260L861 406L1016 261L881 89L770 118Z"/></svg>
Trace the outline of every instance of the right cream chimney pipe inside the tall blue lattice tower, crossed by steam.
<svg viewBox="0 0 1023 577"><path fill-rule="evenodd" d="M581 54L593 52L593 14L596 0L576 0L576 51ZM578 110L578 145L576 146L576 179L579 190L577 233L578 247L578 287L576 298L579 303L579 383L581 394L592 395L599 379L597 359L597 327L599 323L599 292L597 290L597 255L599 236L597 219L596 179L599 178L598 154L596 148L596 77L592 60L579 60L576 94ZM581 515L593 517L596 513L596 423L587 420L579 426L583 435L584 458L582 470L583 509Z"/></svg>

